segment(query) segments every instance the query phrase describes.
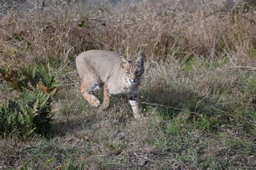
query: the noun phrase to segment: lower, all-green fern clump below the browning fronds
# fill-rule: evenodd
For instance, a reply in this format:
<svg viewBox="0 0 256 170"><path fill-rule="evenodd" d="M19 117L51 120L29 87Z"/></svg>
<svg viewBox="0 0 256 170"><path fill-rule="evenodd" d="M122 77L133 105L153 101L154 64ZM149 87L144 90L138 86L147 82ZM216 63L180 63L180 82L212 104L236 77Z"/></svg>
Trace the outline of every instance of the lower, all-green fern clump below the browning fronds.
<svg viewBox="0 0 256 170"><path fill-rule="evenodd" d="M45 133L51 126L52 95L38 87L35 91L24 89L19 100L9 100L0 110L0 133L15 131L19 137L29 137L33 132Z"/></svg>

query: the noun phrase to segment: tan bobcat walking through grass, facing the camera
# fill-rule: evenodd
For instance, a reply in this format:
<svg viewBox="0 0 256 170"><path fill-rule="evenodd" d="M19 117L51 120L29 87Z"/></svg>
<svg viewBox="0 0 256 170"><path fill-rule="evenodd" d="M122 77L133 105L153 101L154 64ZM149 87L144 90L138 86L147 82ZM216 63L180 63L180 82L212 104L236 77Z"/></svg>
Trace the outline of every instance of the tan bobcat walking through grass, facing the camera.
<svg viewBox="0 0 256 170"><path fill-rule="evenodd" d="M90 92L104 85L102 109L109 107L112 95L127 94L133 115L139 118L138 93L144 73L144 58L145 55L141 54L137 60L128 61L116 52L104 50L80 53L76 58L76 67L84 98L94 107L99 107L100 101Z"/></svg>

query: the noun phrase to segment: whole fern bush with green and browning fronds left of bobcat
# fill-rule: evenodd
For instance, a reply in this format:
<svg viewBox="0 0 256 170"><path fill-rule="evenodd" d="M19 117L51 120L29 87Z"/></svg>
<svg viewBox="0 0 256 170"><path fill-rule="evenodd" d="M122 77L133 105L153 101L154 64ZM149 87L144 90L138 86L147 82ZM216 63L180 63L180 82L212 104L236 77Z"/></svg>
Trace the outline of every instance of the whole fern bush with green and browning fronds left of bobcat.
<svg viewBox="0 0 256 170"><path fill-rule="evenodd" d="M59 86L43 66L20 70L2 68L0 77L18 97L0 105L0 134L27 138L50 129L53 95Z"/></svg>

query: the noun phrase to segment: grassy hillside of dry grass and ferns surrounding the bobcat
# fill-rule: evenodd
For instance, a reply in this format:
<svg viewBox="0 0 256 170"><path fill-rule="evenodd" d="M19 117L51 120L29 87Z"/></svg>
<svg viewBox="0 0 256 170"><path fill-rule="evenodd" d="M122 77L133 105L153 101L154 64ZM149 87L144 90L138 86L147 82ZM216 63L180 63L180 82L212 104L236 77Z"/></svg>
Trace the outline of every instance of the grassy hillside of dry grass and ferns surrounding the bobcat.
<svg viewBox="0 0 256 170"><path fill-rule="evenodd" d="M255 8L31 4L0 6L0 168L256 167ZM143 119L126 96L85 101L75 58L89 49L146 54Z"/></svg>

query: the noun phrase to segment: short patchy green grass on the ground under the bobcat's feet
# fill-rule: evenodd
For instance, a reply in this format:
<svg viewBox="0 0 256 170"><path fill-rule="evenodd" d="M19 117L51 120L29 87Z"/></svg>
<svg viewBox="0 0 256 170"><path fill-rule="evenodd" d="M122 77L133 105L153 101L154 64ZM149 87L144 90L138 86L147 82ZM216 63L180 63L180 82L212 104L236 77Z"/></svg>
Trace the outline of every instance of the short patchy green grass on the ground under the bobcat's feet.
<svg viewBox="0 0 256 170"><path fill-rule="evenodd" d="M184 66L183 62L179 65ZM12 154L21 159L2 153L8 160L4 166L253 168L255 111L241 101L246 102L255 92L254 73L240 71L233 75L232 70L223 70L224 77L231 76L226 80L211 74L215 70L208 70L208 64L197 69L207 73L190 71L186 81L177 77L176 82L170 80L160 87L155 85L164 80L159 77L149 82L150 70L140 93L141 101L146 102L142 104L145 117L139 121L133 119L125 96L114 97L105 112L92 108L80 95L79 80L74 77L72 81L77 83L64 86L56 96L51 132L18 146L13 143L12 149L18 147L21 151ZM70 71L68 67L63 70ZM98 96L103 97L102 92ZM12 144L8 139L2 142Z"/></svg>

